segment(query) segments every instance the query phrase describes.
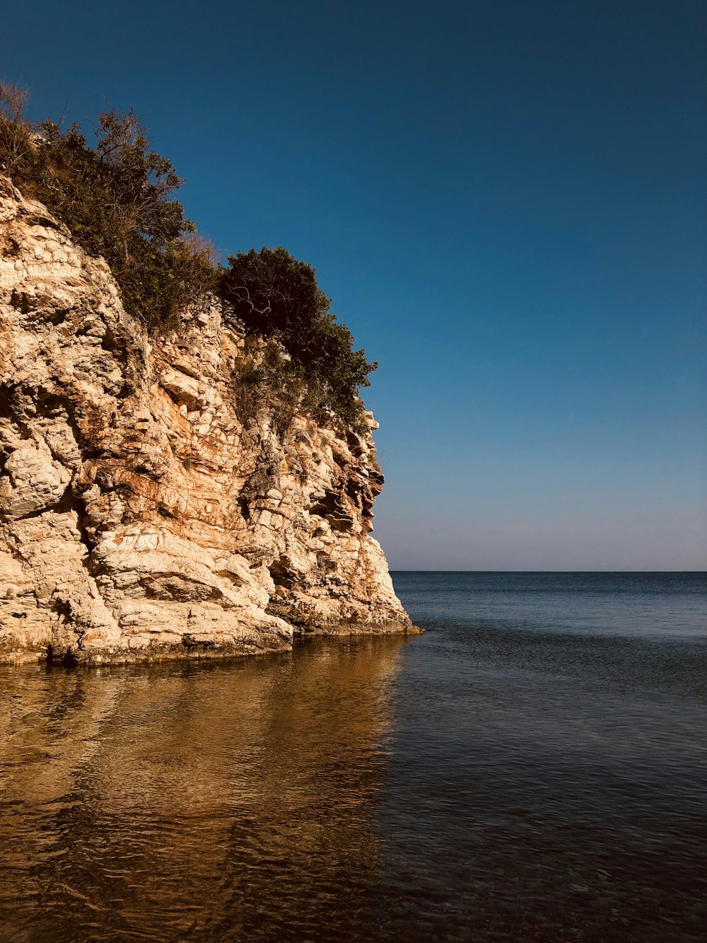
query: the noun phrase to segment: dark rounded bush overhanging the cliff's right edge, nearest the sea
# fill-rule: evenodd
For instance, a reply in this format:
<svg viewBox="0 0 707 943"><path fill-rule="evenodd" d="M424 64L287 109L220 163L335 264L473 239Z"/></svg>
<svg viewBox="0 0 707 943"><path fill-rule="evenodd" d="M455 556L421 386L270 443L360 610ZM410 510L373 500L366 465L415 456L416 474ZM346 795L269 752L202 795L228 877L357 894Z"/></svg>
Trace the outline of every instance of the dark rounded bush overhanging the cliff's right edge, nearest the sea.
<svg viewBox="0 0 707 943"><path fill-rule="evenodd" d="M285 368L292 384L306 386L306 405L314 415L334 412L346 424L361 427L361 387L377 364L330 310L314 269L283 248L230 256L221 290L233 317L251 337L279 341L290 357ZM259 382L259 381L258 381Z"/></svg>

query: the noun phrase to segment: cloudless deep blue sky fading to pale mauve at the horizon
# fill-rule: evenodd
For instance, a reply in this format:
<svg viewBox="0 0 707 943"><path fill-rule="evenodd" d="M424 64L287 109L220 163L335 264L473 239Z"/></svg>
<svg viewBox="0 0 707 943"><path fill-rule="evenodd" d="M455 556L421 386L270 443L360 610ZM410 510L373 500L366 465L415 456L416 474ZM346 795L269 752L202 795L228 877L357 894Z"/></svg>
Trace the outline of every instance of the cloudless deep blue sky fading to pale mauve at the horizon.
<svg viewBox="0 0 707 943"><path fill-rule="evenodd" d="M223 256L380 362L393 569L707 568L701 0L3 4L30 117L144 114Z"/></svg>

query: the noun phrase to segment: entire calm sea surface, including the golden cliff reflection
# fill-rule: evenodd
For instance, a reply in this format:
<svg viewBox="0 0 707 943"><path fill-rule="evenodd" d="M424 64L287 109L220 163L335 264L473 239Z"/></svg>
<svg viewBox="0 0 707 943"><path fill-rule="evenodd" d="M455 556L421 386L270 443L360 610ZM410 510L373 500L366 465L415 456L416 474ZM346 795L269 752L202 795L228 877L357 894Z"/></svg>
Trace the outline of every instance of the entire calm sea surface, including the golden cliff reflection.
<svg viewBox="0 0 707 943"><path fill-rule="evenodd" d="M707 939L704 574L393 578L425 635L0 669L0 939Z"/></svg>

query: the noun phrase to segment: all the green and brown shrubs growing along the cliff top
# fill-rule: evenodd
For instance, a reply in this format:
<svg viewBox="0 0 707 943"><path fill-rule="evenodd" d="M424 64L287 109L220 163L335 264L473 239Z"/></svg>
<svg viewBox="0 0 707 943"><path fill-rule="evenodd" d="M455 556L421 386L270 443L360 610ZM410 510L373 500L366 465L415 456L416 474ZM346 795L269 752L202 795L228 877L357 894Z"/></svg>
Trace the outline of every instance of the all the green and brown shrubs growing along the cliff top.
<svg viewBox="0 0 707 943"><path fill-rule="evenodd" d="M376 364L354 350L311 266L265 247L219 265L173 198L184 180L151 150L132 110L101 112L90 140L80 124L29 122L25 101L25 91L0 85L0 172L66 223L85 252L106 259L130 314L165 333L189 306L218 292L226 320L266 342L253 369L235 377L241 408L279 401L284 414L334 414L361 428L358 391Z"/></svg>

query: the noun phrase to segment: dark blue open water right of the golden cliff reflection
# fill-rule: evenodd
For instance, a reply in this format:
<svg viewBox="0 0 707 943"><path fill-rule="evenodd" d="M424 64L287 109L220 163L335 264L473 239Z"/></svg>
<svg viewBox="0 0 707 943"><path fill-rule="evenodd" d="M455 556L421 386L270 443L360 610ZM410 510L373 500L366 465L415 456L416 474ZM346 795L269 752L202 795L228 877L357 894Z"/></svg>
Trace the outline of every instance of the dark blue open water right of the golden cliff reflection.
<svg viewBox="0 0 707 943"><path fill-rule="evenodd" d="M429 629L397 699L403 883L444 874L480 940L707 939L705 574L393 577Z"/></svg>

